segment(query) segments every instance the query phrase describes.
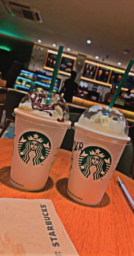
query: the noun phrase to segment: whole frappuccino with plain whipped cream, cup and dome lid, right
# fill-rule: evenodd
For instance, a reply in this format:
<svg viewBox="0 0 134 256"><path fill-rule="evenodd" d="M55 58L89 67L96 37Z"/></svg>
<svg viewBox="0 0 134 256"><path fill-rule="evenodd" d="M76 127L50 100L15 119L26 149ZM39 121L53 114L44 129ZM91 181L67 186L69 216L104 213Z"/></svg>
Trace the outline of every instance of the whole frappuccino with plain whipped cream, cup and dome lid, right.
<svg viewBox="0 0 134 256"><path fill-rule="evenodd" d="M86 205L98 205L123 153L128 123L116 109L93 106L74 124L75 135L68 195Z"/></svg>

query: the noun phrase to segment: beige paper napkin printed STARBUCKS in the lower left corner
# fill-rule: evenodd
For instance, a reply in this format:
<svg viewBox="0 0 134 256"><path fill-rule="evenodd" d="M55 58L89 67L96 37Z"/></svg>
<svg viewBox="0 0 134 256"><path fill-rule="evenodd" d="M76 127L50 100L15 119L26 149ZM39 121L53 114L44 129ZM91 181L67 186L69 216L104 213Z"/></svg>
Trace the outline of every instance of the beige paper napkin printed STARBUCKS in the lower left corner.
<svg viewBox="0 0 134 256"><path fill-rule="evenodd" d="M51 200L0 199L0 255L78 255Z"/></svg>

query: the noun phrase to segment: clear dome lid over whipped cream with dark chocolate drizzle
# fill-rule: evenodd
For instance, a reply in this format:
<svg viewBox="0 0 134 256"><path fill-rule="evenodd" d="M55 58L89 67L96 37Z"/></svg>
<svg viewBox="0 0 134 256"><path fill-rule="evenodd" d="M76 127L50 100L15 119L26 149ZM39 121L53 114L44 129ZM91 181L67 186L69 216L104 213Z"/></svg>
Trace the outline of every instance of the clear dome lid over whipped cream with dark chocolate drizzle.
<svg viewBox="0 0 134 256"><path fill-rule="evenodd" d="M47 99L50 103L47 103ZM34 90L28 93L19 103L19 109L31 115L39 115L65 122L69 120L69 109L65 99L56 93L44 90Z"/></svg>

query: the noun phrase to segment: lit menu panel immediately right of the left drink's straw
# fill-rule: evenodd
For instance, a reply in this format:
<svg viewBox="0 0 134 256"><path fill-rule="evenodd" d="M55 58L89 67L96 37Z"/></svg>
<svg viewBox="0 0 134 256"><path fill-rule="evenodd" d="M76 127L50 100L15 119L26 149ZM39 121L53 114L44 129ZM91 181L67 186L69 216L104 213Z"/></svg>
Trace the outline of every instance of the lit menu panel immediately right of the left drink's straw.
<svg viewBox="0 0 134 256"><path fill-rule="evenodd" d="M74 59L68 57L61 58L60 71L70 73L73 70Z"/></svg>

